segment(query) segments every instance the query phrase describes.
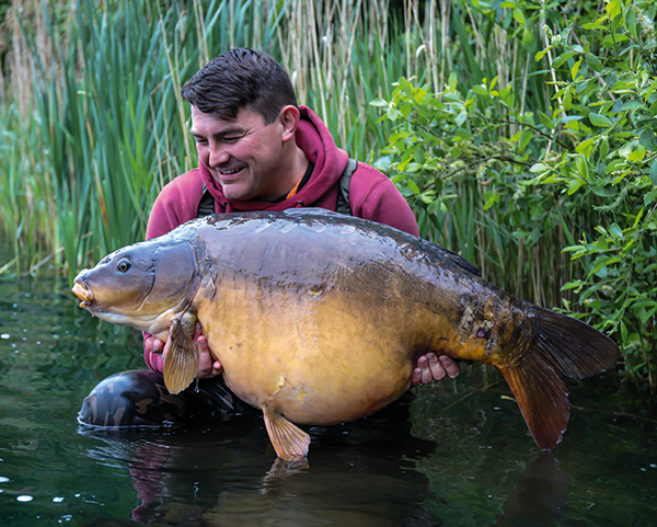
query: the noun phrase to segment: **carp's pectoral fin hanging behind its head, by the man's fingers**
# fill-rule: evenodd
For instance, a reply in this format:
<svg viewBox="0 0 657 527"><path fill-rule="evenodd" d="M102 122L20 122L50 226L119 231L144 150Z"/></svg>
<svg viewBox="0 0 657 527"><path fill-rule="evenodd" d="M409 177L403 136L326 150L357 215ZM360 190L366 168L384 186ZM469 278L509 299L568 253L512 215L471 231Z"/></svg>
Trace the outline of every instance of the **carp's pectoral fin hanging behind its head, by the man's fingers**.
<svg viewBox="0 0 657 527"><path fill-rule="evenodd" d="M171 322L169 351L164 359L164 383L171 393L180 393L187 388L198 373L195 325L196 316L189 311Z"/></svg>

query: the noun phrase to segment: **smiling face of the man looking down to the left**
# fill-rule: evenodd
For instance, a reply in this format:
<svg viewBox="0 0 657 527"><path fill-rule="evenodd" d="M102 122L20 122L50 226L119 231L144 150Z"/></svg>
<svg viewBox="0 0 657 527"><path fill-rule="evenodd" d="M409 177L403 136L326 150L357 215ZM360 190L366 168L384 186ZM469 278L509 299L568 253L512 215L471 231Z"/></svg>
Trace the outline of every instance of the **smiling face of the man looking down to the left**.
<svg viewBox="0 0 657 527"><path fill-rule="evenodd" d="M192 106L189 131L201 162L229 199L270 202L289 191L289 175L281 173L289 139L280 115L267 125L247 108L240 110L237 119L224 121Z"/></svg>

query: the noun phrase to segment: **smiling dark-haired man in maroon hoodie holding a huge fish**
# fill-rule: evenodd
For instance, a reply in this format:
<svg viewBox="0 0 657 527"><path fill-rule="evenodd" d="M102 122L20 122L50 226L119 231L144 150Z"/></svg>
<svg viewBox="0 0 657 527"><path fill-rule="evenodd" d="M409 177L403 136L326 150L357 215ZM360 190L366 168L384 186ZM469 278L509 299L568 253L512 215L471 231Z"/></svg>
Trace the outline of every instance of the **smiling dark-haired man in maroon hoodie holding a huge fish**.
<svg viewBox="0 0 657 527"><path fill-rule="evenodd" d="M349 163L322 121L297 104L289 76L263 51L232 49L211 60L181 90L192 105L191 134L199 165L169 183L155 199L147 239L164 234L198 216L293 207L338 208L341 177ZM348 209L354 216L418 236L413 211L394 184L376 169L351 164ZM196 413L244 411L224 387L221 364L212 360L197 324L200 351L197 387L178 396L163 388L166 343L146 335L150 371L118 374L85 399L80 421L117 426L176 422ZM458 365L429 353L418 358L412 385L446 375ZM118 396L120 394L120 396ZM124 402L117 402L117 397ZM149 404L142 401L149 402Z"/></svg>

